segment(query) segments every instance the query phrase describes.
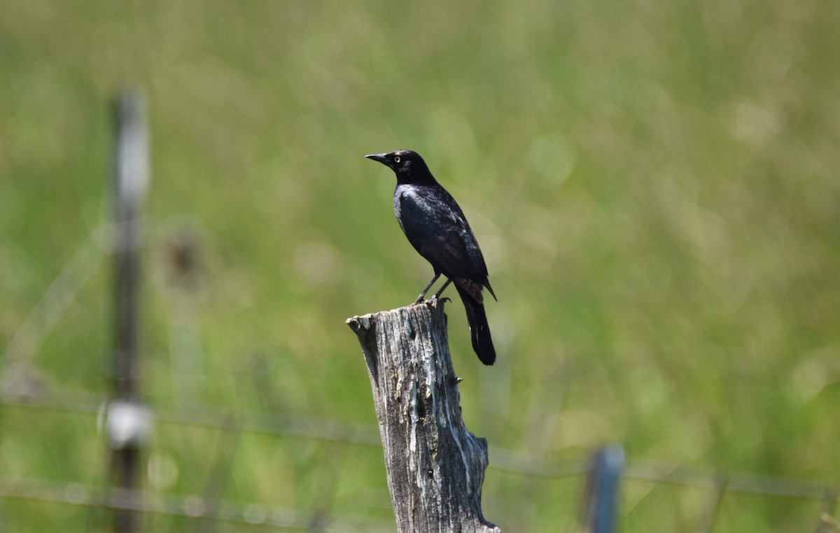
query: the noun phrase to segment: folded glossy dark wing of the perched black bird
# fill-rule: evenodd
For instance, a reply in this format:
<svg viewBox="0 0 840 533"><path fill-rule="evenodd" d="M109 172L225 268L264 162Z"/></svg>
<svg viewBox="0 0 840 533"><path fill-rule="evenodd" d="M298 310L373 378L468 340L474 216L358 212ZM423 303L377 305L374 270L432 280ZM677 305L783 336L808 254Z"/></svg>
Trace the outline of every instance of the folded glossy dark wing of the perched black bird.
<svg viewBox="0 0 840 533"><path fill-rule="evenodd" d="M474 279L486 280L487 267L452 196L443 188L412 187L402 191L398 201L402 230L417 252L475 300L483 300Z"/></svg>

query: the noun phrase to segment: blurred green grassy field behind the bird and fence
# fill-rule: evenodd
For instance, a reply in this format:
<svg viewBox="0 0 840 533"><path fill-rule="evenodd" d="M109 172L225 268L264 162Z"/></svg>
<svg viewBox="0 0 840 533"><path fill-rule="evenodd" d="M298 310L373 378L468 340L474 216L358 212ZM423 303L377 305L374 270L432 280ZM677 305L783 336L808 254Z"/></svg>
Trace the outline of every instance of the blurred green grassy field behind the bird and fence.
<svg viewBox="0 0 840 533"><path fill-rule="evenodd" d="M621 442L631 462L837 483L838 20L827 0L4 0L0 349L108 220L109 102L134 83L150 109L154 410L318 417L375 436L344 319L407 305L431 270L394 220L393 175L362 156L410 148L459 199L499 295L493 368L449 308L471 431L548 462ZM199 257L188 284L171 269L183 238ZM30 378L49 395L108 393L109 267L83 269L34 353ZM159 424L146 487L201 494L222 443ZM387 524L381 450L341 451L241 435L222 496L302 511L332 498L334 517ZM95 416L0 410L0 477L96 485L106 469ZM491 465L485 514L552 530L574 520L581 488ZM627 482L623 529L691 530L710 498ZM812 530L819 509L727 495L716 531ZM86 520L0 499L3 530Z"/></svg>

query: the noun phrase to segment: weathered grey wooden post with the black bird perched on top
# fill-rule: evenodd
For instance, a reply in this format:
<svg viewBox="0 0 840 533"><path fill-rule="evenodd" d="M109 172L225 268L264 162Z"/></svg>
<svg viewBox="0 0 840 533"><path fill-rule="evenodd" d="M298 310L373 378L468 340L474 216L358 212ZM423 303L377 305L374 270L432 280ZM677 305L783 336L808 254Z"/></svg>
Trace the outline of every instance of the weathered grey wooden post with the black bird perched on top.
<svg viewBox="0 0 840 533"><path fill-rule="evenodd" d="M354 316L397 530L501 530L481 513L487 442L464 426L441 300Z"/></svg>

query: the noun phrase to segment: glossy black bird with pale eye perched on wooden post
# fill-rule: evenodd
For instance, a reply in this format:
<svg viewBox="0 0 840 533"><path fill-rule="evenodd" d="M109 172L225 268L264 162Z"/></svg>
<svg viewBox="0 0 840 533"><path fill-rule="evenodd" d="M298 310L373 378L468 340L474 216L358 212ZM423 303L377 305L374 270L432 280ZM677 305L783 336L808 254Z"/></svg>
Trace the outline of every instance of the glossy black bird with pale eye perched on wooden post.
<svg viewBox="0 0 840 533"><path fill-rule="evenodd" d="M484 312L484 287L496 299L496 294L487 280L487 265L481 249L475 240L464 212L449 192L440 186L428 170L426 162L411 150L396 150L390 154L365 155L379 161L396 174L394 191L394 212L408 242L434 269L434 277L428 282L415 303L423 297L438 280L440 274L447 281L434 295L437 298L450 283L455 284L470 323L473 349L481 363L493 364L496 350L487 326Z"/></svg>

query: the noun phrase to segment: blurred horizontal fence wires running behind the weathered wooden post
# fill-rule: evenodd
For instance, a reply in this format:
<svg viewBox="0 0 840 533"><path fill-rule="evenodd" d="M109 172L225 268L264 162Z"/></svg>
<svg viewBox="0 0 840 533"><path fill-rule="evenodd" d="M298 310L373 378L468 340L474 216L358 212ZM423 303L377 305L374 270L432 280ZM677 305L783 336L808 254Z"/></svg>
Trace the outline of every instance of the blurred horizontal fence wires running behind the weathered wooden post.
<svg viewBox="0 0 840 533"><path fill-rule="evenodd" d="M97 395L9 395L0 394L0 406L31 410L51 410L102 416L108 399ZM274 436L294 436L343 445L380 447L374 426L348 424L306 416L266 413L230 413L221 410L190 408L155 410L157 424L196 426L236 433L262 433ZM232 429L234 428L234 429ZM514 473L523 477L560 479L591 475L593 465L585 459L549 462L544 457L531 457L491 447L491 470ZM820 523L825 531L835 531L832 514L837 504L837 487L821 483L803 483L791 478L758 476L750 473L722 473L658 462L632 461L620 473L622 479L664 483L674 486L706 489L720 499L725 493L755 494L766 497L811 499L822 502ZM600 494L596 499L614 498L617 487ZM264 525L274 528L315 528L312 515L294 509L276 509L264 504L234 503L207 499L207 494L174 496L156 491L105 489L82 483L60 483L33 478L0 478L0 499L24 499L53 504L79 505L103 509L129 509L142 514L182 516L191 519L211 518L243 525ZM712 506L706 521L711 523L717 513ZM324 518L322 517L322 520ZM381 522L352 522L330 517L325 530L389 530L391 524Z"/></svg>

